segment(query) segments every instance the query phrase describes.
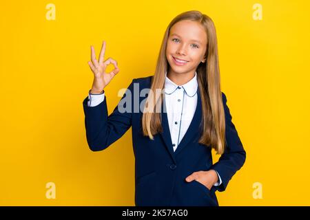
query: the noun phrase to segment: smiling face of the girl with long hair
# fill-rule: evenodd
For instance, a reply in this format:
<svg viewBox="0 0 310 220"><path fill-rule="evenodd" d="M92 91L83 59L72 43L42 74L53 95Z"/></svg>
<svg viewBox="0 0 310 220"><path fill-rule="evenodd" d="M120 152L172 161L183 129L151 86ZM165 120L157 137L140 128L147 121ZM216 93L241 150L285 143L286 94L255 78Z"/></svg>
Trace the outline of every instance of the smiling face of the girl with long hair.
<svg viewBox="0 0 310 220"><path fill-rule="evenodd" d="M205 63L206 50L207 33L197 21L179 21L170 28L166 57L173 74L194 73L200 62Z"/></svg>

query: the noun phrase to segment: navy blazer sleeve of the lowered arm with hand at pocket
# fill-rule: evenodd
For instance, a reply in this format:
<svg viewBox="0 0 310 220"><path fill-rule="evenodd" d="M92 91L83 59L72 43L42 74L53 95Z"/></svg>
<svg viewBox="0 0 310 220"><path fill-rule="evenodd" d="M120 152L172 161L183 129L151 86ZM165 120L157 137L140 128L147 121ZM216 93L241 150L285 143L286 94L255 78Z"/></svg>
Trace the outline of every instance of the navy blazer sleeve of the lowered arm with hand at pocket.
<svg viewBox="0 0 310 220"><path fill-rule="evenodd" d="M225 111L225 151L218 159L218 162L210 168L216 170L222 179L222 184L215 186L220 192L225 191L229 180L243 166L246 157L236 127L231 122L232 117L227 106L227 98L223 92L222 98Z"/></svg>

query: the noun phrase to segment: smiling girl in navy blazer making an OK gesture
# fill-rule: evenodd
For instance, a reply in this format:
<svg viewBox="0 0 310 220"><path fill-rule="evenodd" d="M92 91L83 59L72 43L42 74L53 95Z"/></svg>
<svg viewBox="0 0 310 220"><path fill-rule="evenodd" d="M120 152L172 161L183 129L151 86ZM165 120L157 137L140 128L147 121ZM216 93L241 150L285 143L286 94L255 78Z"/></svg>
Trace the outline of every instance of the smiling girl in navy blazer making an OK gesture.
<svg viewBox="0 0 310 220"><path fill-rule="evenodd" d="M110 115L104 88L119 69L104 54L105 41L98 61L91 46L94 80L83 100L90 149L102 151L132 126L136 206L218 206L216 190L226 189L246 153L220 91L213 21L196 10L174 18L154 76L132 80ZM110 63L115 69L105 73ZM215 164L211 148L221 155Z"/></svg>

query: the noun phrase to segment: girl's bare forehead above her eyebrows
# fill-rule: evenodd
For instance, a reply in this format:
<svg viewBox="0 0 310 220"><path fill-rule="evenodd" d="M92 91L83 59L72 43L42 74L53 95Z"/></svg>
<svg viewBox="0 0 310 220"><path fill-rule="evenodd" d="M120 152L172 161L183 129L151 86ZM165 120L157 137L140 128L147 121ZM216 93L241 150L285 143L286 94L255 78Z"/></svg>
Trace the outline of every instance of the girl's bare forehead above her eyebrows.
<svg viewBox="0 0 310 220"><path fill-rule="evenodd" d="M198 41L200 43L207 43L207 33L203 25L198 21L178 21L169 31L169 35L179 36L182 39L189 41Z"/></svg>

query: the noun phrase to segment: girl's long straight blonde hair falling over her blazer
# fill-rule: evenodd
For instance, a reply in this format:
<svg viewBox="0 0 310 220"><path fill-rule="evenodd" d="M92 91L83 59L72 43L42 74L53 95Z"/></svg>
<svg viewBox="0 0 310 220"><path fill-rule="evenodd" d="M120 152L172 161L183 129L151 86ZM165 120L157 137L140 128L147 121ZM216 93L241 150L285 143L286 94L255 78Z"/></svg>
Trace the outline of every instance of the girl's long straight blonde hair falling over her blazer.
<svg viewBox="0 0 310 220"><path fill-rule="evenodd" d="M154 140L154 135L156 135L156 133L163 132L161 113L158 113L155 109L158 109L158 106L163 104L164 97L163 93L161 93L160 96L154 96L154 94L158 94L156 93L158 90L164 90L165 72L169 70L169 63L165 55L169 31L175 23L183 20L198 21L203 25L207 33L207 50L205 54L207 62L200 63L196 69L203 109L203 117L200 124L202 135L198 142L206 146L211 146L211 148L215 149L216 154L223 154L225 151L225 111L220 90L216 28L211 18L197 10L178 14L178 16L169 23L165 31L163 43L161 44L157 59L156 71L152 77L152 85L149 91L151 96L147 96L145 101L145 109L147 107L148 111L143 111L143 135L149 136L151 140Z"/></svg>

